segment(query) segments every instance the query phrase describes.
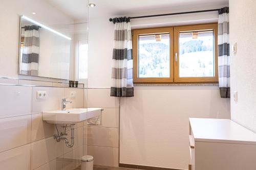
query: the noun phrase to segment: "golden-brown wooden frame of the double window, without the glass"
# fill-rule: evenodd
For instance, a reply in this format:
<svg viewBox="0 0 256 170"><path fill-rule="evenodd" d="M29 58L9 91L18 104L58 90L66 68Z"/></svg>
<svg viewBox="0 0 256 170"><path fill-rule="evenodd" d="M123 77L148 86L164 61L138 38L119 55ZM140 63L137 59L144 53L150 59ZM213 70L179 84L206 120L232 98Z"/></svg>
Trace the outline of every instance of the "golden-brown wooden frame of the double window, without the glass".
<svg viewBox="0 0 256 170"><path fill-rule="evenodd" d="M214 77L179 77L179 32L197 31L197 30L213 30L214 31L214 55L215 55L215 76ZM200 25L188 25L177 27L162 27L150 29L132 30L133 37L133 82L136 84L179 84L179 83L218 83L218 23L207 23ZM169 34L170 40L170 78L138 78L138 38L139 35L150 34ZM175 61L174 54L177 53L178 61Z"/></svg>

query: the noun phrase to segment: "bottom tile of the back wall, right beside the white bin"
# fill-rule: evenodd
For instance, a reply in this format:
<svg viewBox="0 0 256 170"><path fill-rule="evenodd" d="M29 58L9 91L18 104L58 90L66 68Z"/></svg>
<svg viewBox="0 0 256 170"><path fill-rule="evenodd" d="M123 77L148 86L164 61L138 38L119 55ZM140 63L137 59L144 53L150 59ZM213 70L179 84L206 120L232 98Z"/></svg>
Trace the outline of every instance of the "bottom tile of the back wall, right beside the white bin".
<svg viewBox="0 0 256 170"><path fill-rule="evenodd" d="M88 155L94 157L94 165L118 167L118 148L88 145Z"/></svg>

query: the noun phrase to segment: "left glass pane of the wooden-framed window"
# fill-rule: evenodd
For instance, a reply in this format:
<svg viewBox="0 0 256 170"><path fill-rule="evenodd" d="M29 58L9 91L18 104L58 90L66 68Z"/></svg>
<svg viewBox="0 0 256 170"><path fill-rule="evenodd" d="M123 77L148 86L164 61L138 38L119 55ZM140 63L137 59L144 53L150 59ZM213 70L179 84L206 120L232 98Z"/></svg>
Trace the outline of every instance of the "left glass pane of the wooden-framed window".
<svg viewBox="0 0 256 170"><path fill-rule="evenodd" d="M169 78L169 51L169 34L140 35L138 52L139 78Z"/></svg>

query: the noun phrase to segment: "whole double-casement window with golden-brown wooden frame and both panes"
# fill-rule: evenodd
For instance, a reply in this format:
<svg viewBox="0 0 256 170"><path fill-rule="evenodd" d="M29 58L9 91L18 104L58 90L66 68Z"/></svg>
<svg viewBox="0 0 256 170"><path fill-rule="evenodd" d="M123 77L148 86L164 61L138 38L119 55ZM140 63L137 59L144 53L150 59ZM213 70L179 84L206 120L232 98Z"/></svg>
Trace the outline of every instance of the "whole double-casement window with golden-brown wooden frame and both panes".
<svg viewBox="0 0 256 170"><path fill-rule="evenodd" d="M218 82L217 26L133 30L134 82Z"/></svg>

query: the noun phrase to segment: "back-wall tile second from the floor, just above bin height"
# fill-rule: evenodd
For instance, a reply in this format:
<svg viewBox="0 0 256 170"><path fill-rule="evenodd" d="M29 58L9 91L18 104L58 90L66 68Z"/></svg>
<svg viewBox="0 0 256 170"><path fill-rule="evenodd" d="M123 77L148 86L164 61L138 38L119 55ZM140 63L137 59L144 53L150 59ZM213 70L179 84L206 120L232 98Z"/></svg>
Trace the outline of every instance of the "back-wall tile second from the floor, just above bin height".
<svg viewBox="0 0 256 170"><path fill-rule="evenodd" d="M88 145L102 147L119 147L119 129L105 127L88 127Z"/></svg>

